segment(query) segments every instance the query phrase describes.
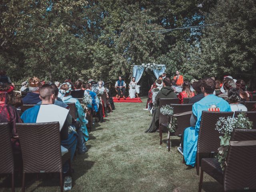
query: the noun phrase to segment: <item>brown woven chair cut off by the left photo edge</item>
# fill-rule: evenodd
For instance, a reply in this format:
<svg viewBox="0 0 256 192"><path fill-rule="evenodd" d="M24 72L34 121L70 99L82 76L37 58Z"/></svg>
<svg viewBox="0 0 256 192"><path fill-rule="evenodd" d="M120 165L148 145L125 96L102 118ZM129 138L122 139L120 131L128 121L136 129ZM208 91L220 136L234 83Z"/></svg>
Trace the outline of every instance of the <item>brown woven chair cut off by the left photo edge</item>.
<svg viewBox="0 0 256 192"><path fill-rule="evenodd" d="M12 192L14 192L14 157L8 123L0 123L0 174L12 174Z"/></svg>

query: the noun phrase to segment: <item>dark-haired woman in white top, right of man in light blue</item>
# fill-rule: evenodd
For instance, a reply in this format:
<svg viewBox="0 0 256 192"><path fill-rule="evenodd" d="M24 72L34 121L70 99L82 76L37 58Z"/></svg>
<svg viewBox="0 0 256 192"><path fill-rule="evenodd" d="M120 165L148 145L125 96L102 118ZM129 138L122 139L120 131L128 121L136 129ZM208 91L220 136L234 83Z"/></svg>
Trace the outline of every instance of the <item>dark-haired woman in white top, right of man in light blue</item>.
<svg viewBox="0 0 256 192"><path fill-rule="evenodd" d="M238 103L241 101L241 98L239 96L239 90L236 88L232 88L228 90L228 102L230 105L230 108L232 111L247 111L246 106L244 106L241 103Z"/></svg>

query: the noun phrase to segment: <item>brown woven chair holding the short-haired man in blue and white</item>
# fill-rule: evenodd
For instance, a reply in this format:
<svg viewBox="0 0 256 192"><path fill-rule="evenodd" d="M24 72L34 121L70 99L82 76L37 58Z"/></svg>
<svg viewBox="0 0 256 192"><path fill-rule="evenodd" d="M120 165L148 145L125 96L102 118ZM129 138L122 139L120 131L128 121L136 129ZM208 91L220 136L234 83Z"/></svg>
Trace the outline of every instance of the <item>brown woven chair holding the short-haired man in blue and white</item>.
<svg viewBox="0 0 256 192"><path fill-rule="evenodd" d="M26 173L60 174L60 191L63 191L62 164L68 160L71 170L70 153L61 156L59 122L17 123L23 159L22 192L25 191Z"/></svg>

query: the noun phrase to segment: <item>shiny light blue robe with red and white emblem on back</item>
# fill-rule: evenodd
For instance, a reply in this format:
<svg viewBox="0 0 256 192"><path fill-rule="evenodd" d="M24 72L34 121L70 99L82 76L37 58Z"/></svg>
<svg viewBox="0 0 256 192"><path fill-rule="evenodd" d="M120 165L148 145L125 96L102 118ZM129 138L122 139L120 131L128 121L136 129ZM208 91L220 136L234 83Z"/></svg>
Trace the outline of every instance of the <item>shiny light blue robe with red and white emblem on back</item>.
<svg viewBox="0 0 256 192"><path fill-rule="evenodd" d="M188 127L184 131L183 155L187 165L194 166L196 162L196 151L198 133L201 123L202 111L230 112L231 108L224 99L210 94L193 104L192 112L196 116L196 126Z"/></svg>

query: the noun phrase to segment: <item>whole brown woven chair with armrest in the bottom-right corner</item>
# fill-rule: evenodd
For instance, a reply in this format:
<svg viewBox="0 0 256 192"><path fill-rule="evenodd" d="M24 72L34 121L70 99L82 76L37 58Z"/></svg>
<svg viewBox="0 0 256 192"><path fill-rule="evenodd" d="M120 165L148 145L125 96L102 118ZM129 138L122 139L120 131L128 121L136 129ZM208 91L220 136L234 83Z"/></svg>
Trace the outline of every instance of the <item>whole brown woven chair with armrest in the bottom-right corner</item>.
<svg viewBox="0 0 256 192"><path fill-rule="evenodd" d="M241 144L244 145L230 143L224 173L217 158L202 159L199 192L202 190L204 172L220 182L225 192L256 191L256 130L234 129L230 141L243 141ZM248 141L254 142L248 144Z"/></svg>

